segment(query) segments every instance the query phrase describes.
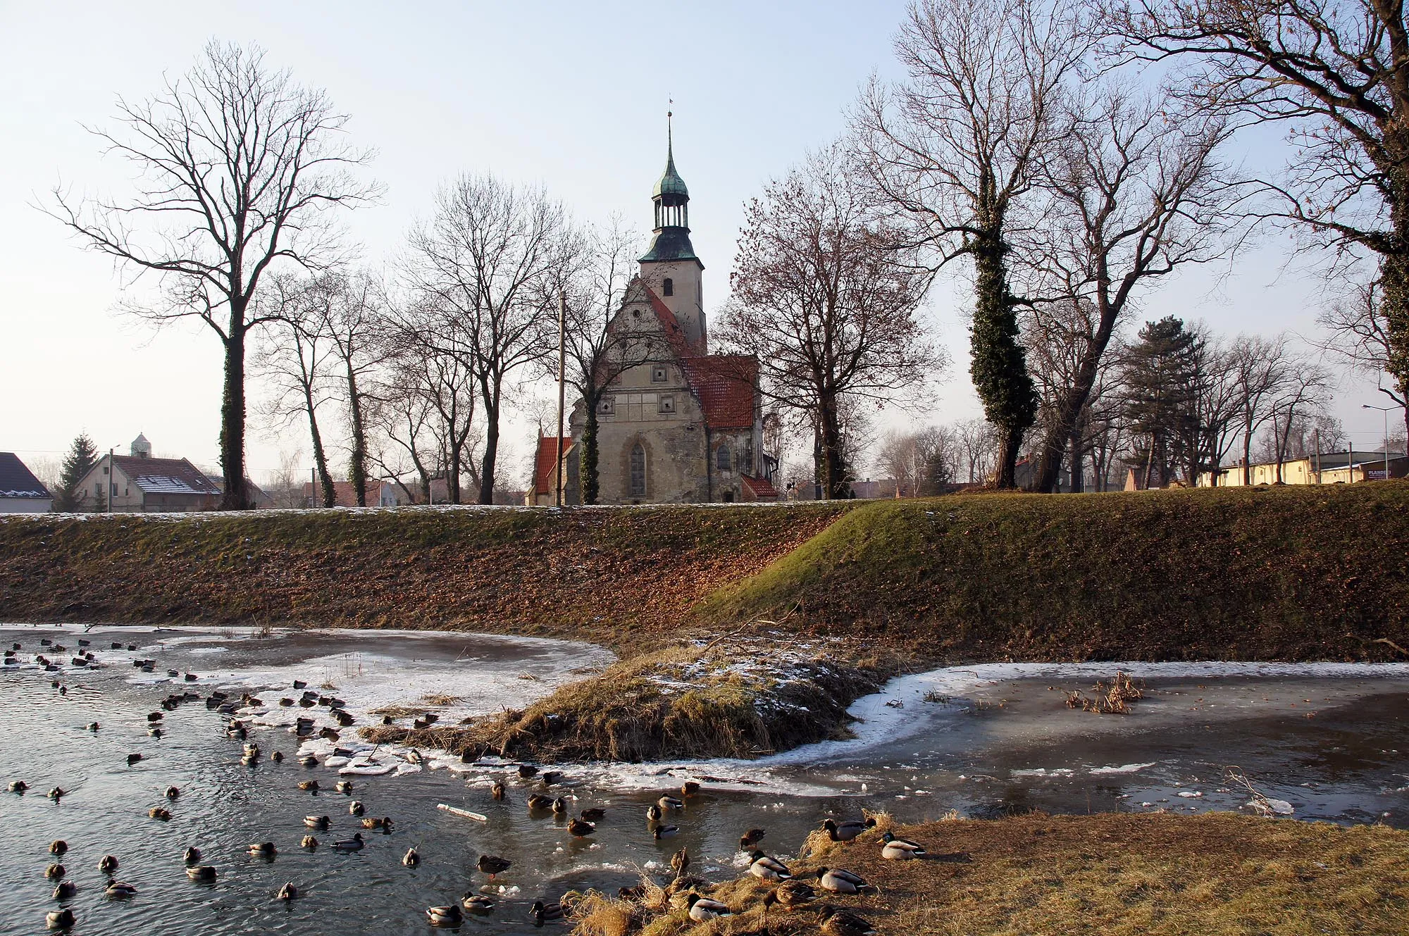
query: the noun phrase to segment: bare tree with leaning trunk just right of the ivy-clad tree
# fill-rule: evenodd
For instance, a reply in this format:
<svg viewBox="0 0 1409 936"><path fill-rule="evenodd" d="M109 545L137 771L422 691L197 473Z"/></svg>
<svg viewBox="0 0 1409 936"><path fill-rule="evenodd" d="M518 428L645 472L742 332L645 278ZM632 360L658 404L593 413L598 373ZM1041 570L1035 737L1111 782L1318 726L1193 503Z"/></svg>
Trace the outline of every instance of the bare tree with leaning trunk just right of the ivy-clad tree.
<svg viewBox="0 0 1409 936"><path fill-rule="evenodd" d="M1174 94L1140 94L1116 80L1074 92L1069 135L1041 154L1051 213L1024 273L1061 296L1034 303L1030 354L1055 341L1069 367L1044 388L1048 419L1033 488L1051 492L1106 348L1130 304L1158 278L1224 255L1239 195L1217 162L1226 123L1179 113ZM1072 303L1085 314L1071 314ZM1040 369L1040 368L1038 368Z"/></svg>

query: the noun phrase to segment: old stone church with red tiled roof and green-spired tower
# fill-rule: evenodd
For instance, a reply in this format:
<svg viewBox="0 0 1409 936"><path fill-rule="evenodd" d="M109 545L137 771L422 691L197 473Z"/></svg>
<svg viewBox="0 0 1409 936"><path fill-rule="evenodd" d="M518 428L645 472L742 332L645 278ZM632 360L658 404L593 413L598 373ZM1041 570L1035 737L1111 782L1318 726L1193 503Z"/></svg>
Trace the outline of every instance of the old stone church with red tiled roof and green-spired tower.
<svg viewBox="0 0 1409 936"><path fill-rule="evenodd" d="M778 460L764 451L758 359L709 352L704 264L690 244L690 193L675 169L669 135L651 199L651 248L607 326L623 338L609 345L609 355L635 351L604 369L614 376L597 403L597 503L776 500ZM561 469L564 503L575 505L582 502L576 443L586 426L581 399L569 426ZM528 503L555 502L557 454L557 437L538 440Z"/></svg>

